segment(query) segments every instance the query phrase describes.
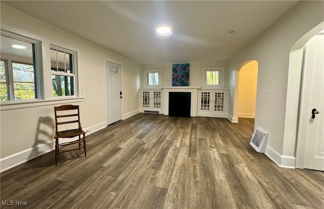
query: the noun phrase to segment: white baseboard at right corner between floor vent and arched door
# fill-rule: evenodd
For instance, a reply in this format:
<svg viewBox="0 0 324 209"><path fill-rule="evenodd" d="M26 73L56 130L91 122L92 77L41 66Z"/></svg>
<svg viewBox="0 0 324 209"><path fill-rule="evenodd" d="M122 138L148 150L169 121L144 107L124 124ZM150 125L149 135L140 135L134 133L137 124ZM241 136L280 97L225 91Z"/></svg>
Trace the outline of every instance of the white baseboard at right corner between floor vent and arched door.
<svg viewBox="0 0 324 209"><path fill-rule="evenodd" d="M267 145L265 154L279 167L291 169L295 168L296 159L294 156L281 155L269 145Z"/></svg>

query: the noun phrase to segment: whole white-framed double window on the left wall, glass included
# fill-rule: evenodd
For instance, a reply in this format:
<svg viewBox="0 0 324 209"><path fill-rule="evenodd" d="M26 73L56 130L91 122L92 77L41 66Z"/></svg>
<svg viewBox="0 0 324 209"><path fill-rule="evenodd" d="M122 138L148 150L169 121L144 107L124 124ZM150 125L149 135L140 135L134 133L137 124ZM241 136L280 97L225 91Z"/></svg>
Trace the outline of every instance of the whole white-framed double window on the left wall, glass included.
<svg viewBox="0 0 324 209"><path fill-rule="evenodd" d="M82 98L79 49L6 24L0 36L1 109Z"/></svg>

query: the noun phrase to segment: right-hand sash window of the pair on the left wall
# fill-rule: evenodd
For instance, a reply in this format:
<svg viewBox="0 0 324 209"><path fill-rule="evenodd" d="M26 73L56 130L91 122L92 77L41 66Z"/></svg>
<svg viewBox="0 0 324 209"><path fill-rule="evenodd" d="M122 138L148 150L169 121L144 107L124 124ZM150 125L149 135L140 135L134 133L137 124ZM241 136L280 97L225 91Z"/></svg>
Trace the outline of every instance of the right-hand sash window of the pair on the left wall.
<svg viewBox="0 0 324 209"><path fill-rule="evenodd" d="M73 61L73 53L51 48L53 96L74 95Z"/></svg>

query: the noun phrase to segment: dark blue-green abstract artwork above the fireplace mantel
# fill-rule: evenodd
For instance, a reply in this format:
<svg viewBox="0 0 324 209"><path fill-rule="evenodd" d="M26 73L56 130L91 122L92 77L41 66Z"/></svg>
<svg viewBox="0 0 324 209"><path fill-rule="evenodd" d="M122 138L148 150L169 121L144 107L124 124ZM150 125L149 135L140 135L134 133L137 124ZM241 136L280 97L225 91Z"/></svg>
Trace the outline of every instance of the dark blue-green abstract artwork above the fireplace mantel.
<svg viewBox="0 0 324 209"><path fill-rule="evenodd" d="M172 65L172 86L189 86L189 63Z"/></svg>

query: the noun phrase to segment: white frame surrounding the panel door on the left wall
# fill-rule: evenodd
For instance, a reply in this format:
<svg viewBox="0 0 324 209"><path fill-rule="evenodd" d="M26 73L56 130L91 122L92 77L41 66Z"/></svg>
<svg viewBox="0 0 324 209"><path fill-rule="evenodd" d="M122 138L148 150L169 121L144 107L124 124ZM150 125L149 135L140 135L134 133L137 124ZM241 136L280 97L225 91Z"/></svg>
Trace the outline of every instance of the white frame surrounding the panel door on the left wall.
<svg viewBox="0 0 324 209"><path fill-rule="evenodd" d="M108 126L108 121L107 121L107 115L108 115L108 112L107 112L107 107L108 107L108 104L107 104L107 70L106 70L106 62L109 62L109 63L114 63L116 65L120 65L120 69L119 69L119 76L120 76L120 91L121 92L124 92L123 91L123 63L120 63L120 62L117 62L115 60L112 60L110 58L106 58L104 57L103 59L103 72L104 72L104 107L105 107L105 122L106 122L106 126ZM124 96L124 95L123 95ZM124 105L123 105L123 100L124 99L120 99L120 115L121 115L121 120L124 120Z"/></svg>

